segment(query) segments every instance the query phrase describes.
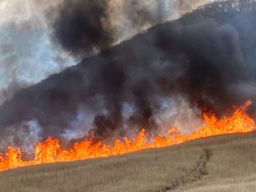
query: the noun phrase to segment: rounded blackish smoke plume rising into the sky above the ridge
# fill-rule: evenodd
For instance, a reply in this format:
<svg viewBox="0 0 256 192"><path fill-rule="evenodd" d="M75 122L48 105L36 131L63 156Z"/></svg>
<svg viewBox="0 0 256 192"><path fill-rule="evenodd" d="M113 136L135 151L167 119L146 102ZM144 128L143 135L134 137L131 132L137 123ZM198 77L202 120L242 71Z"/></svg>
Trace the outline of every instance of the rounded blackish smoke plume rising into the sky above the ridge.
<svg viewBox="0 0 256 192"><path fill-rule="evenodd" d="M108 0L65 1L60 7L54 33L67 51L75 55L88 54L113 43L111 25Z"/></svg>

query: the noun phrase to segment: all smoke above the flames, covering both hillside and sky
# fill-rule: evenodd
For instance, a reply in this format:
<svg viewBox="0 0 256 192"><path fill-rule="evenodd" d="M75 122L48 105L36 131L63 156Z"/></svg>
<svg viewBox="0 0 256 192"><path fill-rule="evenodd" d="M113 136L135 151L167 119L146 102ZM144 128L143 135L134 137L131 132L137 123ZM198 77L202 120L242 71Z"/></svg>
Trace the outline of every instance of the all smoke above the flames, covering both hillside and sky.
<svg viewBox="0 0 256 192"><path fill-rule="evenodd" d="M256 1L208 2L0 0L0 149L255 119Z"/></svg>

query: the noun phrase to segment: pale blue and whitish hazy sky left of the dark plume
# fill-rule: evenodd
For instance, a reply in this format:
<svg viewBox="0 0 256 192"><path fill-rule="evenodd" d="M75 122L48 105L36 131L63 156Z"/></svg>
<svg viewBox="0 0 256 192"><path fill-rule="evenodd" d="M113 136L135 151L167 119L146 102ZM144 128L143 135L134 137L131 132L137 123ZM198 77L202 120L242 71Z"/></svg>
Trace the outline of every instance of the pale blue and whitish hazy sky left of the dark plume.
<svg viewBox="0 0 256 192"><path fill-rule="evenodd" d="M1 104L22 88L74 64L50 41L45 11L58 2L0 1Z"/></svg>

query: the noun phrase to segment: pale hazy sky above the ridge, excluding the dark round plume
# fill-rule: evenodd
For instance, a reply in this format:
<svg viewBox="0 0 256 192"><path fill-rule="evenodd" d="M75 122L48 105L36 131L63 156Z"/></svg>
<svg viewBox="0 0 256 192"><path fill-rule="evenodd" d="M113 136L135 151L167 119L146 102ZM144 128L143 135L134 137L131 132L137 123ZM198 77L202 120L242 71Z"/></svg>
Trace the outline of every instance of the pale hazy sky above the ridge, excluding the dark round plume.
<svg viewBox="0 0 256 192"><path fill-rule="evenodd" d="M111 43L119 43L152 24L177 18L209 1L162 0L161 7L159 2L110 0L108 14L116 28ZM64 3L64 0L0 0L0 103L22 87L77 64L79 57L71 56L52 40L52 23ZM142 8L151 15L148 22L136 18L136 14L132 17L133 11ZM134 26L133 20L142 21Z"/></svg>

